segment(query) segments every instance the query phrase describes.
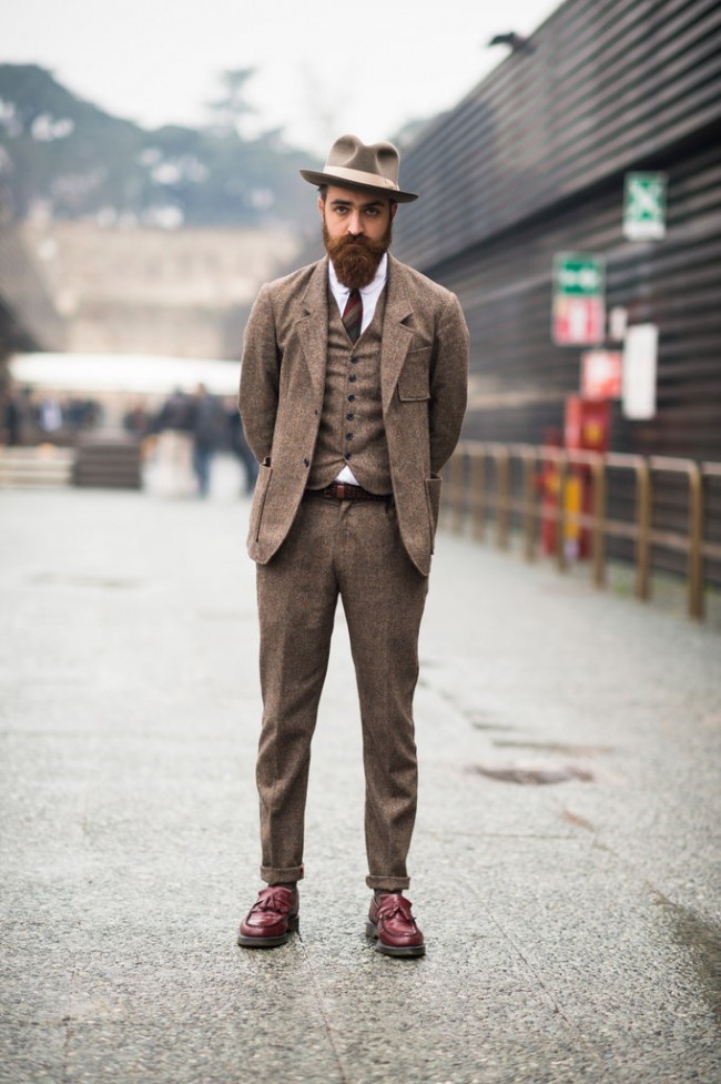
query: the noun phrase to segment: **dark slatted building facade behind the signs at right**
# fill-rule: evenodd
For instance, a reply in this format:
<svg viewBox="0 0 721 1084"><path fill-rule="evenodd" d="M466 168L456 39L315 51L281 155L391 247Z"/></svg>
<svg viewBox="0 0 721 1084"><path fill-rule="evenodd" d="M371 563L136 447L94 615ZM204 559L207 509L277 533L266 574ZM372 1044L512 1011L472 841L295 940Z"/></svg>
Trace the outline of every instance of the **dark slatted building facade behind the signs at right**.
<svg viewBox="0 0 721 1084"><path fill-rule="evenodd" d="M562 428L581 348L552 341L552 261L590 252L607 308L659 330L656 416L615 402L610 446L721 460L721 4L567 0L529 45L403 154L422 197L394 252L461 300L465 435L541 444ZM623 235L631 171L667 175L661 240Z"/></svg>

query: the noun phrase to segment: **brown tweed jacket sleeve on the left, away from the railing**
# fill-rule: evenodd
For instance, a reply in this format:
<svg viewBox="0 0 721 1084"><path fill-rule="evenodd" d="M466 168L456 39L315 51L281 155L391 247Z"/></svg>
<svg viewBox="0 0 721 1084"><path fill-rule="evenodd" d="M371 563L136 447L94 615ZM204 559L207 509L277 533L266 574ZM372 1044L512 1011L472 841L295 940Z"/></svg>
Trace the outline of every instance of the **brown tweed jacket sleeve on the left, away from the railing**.
<svg viewBox="0 0 721 1084"><path fill-rule="evenodd" d="M270 286L255 300L243 338L238 409L245 439L258 463L270 459L278 406L281 351Z"/></svg>

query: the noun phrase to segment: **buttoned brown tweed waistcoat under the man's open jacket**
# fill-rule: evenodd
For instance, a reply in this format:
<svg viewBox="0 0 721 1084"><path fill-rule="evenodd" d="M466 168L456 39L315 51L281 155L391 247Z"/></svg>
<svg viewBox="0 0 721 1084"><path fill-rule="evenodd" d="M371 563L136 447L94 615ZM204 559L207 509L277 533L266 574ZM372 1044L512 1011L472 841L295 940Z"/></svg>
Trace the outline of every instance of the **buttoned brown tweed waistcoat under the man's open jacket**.
<svg viewBox="0 0 721 1084"><path fill-rule="evenodd" d="M390 493L390 464L380 405L380 340L385 290L373 320L356 343L343 326L328 292L328 353L323 414L313 455L308 488L329 485L344 466L364 489Z"/></svg>

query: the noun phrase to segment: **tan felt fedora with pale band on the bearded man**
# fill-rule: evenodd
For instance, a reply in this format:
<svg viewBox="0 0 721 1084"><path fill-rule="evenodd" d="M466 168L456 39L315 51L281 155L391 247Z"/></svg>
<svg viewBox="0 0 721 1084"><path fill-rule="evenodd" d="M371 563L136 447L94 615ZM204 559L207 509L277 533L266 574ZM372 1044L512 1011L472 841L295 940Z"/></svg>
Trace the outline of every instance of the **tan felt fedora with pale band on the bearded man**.
<svg viewBox="0 0 721 1084"><path fill-rule="evenodd" d="M357 135L342 135L331 148L321 173L301 170L311 184L336 184L342 189L378 192L397 203L410 203L418 196L398 188L399 155L393 143L366 146Z"/></svg>

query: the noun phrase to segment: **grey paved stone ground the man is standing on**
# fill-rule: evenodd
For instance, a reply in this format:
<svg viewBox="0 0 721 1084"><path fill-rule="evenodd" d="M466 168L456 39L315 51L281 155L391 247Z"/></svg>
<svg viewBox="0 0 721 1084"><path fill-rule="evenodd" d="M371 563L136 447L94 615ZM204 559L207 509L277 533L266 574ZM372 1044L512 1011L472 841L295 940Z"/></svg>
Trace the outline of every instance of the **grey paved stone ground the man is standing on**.
<svg viewBox="0 0 721 1084"><path fill-rule="evenodd" d="M0 494L0 1081L721 1081L721 636L464 539L439 539L422 641L427 956L364 936L341 616L301 935L236 948L247 511L234 486Z"/></svg>

